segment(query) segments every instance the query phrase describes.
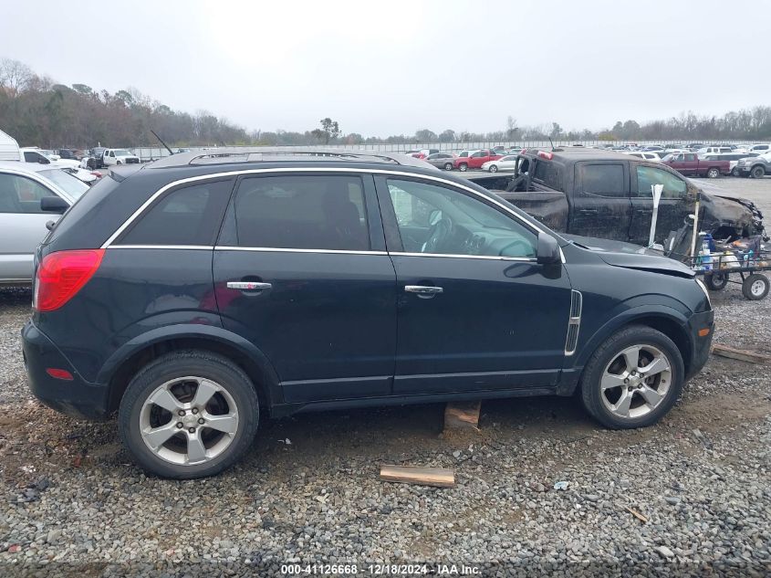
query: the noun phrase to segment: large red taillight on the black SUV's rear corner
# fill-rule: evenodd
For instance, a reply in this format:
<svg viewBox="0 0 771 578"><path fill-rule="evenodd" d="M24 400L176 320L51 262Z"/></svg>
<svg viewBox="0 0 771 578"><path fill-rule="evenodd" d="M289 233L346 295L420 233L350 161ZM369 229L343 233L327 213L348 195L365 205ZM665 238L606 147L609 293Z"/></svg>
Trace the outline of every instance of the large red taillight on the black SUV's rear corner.
<svg viewBox="0 0 771 578"><path fill-rule="evenodd" d="M99 268L104 249L59 251L43 258L37 268L32 307L53 311L71 300Z"/></svg>

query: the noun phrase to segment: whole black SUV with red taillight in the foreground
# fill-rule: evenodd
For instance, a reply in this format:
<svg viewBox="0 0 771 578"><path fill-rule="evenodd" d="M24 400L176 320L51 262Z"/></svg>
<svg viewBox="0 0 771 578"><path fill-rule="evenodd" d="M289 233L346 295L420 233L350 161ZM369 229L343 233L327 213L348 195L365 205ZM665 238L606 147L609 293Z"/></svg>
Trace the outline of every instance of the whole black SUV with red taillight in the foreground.
<svg viewBox="0 0 771 578"><path fill-rule="evenodd" d="M565 240L401 155L187 152L113 170L36 252L32 391L118 413L143 468L214 474L270 415L570 395L648 426L713 311L664 257Z"/></svg>

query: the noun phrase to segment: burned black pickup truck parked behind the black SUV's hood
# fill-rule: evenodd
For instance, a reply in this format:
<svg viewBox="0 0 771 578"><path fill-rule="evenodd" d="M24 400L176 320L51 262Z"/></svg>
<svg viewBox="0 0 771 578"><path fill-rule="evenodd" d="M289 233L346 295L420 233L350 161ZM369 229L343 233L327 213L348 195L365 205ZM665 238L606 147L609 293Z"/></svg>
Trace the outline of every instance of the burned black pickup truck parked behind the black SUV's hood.
<svg viewBox="0 0 771 578"><path fill-rule="evenodd" d="M514 174L475 177L550 228L648 246L651 185L662 185L654 243L670 257L690 257L697 227L726 242L764 236L763 215L750 201L704 192L662 163L597 149L527 149ZM697 205L698 204L698 205Z"/></svg>

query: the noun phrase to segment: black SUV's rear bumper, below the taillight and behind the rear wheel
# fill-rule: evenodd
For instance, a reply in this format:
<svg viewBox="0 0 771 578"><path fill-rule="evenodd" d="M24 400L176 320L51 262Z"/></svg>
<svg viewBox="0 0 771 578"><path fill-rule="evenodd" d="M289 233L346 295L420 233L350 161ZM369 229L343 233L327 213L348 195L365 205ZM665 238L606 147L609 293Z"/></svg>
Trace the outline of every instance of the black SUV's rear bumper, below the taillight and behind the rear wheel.
<svg viewBox="0 0 771 578"><path fill-rule="evenodd" d="M57 346L32 321L26 322L21 333L29 389L37 399L57 412L78 419L108 417L108 388L105 385L91 384L80 377ZM51 377L46 372L48 368L66 370L72 379Z"/></svg>

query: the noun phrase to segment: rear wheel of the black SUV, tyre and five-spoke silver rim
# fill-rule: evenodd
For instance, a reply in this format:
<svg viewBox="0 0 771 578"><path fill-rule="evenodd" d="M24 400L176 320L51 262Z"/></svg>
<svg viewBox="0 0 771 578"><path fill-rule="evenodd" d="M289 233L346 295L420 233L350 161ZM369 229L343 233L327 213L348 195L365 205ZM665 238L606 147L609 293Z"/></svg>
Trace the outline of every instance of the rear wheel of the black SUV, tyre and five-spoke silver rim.
<svg viewBox="0 0 771 578"><path fill-rule="evenodd" d="M259 421L254 385L240 367L203 351L172 352L131 380L120 437L141 468L163 478L205 478L230 468Z"/></svg>

